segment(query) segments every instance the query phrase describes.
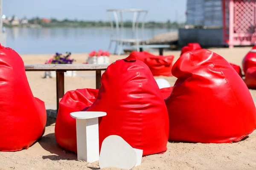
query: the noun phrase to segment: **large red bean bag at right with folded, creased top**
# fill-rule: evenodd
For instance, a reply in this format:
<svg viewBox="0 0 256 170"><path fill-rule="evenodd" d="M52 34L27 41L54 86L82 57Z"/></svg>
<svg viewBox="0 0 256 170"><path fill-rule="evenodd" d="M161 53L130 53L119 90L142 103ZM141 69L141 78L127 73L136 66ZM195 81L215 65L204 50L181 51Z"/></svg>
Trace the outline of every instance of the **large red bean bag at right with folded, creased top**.
<svg viewBox="0 0 256 170"><path fill-rule="evenodd" d="M238 142L256 128L256 109L243 79L221 56L201 49L183 54L166 99L169 141Z"/></svg>

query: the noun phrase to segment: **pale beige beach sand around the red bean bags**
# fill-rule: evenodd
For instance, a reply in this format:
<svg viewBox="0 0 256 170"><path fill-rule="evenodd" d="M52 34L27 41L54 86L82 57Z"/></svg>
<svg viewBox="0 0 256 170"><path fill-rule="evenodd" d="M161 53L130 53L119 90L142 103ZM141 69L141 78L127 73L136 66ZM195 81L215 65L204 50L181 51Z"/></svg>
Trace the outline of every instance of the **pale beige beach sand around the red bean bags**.
<svg viewBox="0 0 256 170"><path fill-rule="evenodd" d="M241 66L244 55L250 47L209 49L227 61ZM155 53L157 54L157 53ZM175 55L180 51L166 51L164 55ZM21 55L25 64L44 64L52 54ZM87 54L72 54L75 64L85 62ZM111 55L110 60L127 57ZM47 108L55 106L55 78L43 79L43 72L26 72L29 85L35 97L43 100ZM65 92L78 88L95 88L94 71L77 72L77 77L65 77ZM159 77L155 77L159 78ZM174 85L175 77L163 77ZM250 90L253 98L256 91ZM54 117L54 111L50 113ZM76 161L76 154L59 147L55 141L55 118L48 116L44 136L27 150L0 152L0 170L97 170L99 162ZM142 164L134 170L255 170L256 169L256 132L241 142L233 144L201 144L168 142L168 150L161 155L143 157ZM106 168L116 169L116 168Z"/></svg>

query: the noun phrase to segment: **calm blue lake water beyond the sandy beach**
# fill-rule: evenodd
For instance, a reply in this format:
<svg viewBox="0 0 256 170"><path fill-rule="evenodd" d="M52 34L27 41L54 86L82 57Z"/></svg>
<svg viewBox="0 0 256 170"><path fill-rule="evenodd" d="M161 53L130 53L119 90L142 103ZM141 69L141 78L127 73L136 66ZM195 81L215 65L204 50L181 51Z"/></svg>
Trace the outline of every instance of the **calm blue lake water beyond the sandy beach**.
<svg viewBox="0 0 256 170"><path fill-rule="evenodd" d="M176 30L145 29L144 40ZM124 30L131 38L131 28ZM19 54L88 53L93 50L108 50L110 28L6 28L7 45ZM139 34L141 32L139 31ZM113 53L115 43L110 50Z"/></svg>

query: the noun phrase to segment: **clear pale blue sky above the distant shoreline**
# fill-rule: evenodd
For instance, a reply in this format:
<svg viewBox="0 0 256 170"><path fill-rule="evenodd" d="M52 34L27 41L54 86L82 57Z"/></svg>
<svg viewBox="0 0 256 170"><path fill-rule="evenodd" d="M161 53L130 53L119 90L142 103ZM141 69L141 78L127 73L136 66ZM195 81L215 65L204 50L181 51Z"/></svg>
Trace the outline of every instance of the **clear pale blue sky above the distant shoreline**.
<svg viewBox="0 0 256 170"><path fill-rule="evenodd" d="M148 10L146 21L186 20L186 0L3 0L3 14L28 19L45 17L108 21L107 9L124 8ZM132 15L124 14L124 20L132 20Z"/></svg>

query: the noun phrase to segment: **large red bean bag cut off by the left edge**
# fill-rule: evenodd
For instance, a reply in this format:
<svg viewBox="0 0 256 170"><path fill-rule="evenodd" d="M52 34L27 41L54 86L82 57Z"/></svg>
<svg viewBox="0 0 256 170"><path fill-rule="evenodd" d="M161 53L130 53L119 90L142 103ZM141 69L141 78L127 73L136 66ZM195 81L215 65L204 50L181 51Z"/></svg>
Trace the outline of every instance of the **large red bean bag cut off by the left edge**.
<svg viewBox="0 0 256 170"><path fill-rule="evenodd" d="M44 102L33 96L21 57L0 45L0 151L29 148L43 135L46 119Z"/></svg>

